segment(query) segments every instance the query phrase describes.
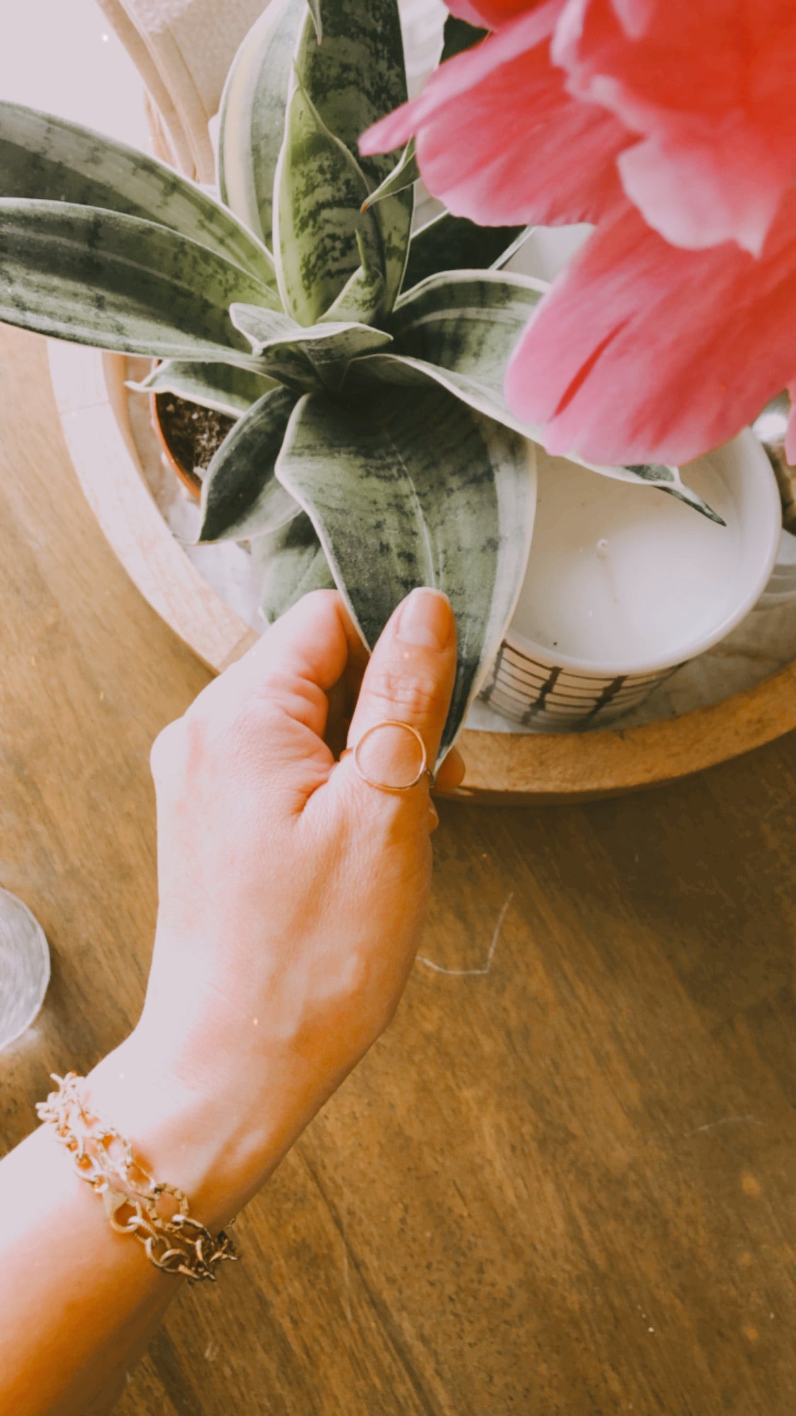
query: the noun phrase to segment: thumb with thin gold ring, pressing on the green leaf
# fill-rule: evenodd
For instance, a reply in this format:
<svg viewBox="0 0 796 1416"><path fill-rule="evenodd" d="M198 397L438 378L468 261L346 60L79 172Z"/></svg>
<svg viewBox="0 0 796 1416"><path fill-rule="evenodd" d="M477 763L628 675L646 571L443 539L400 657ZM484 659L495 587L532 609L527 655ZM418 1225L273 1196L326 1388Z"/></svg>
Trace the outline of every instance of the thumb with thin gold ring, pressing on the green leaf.
<svg viewBox="0 0 796 1416"><path fill-rule="evenodd" d="M402 786L418 775L416 738L402 728L374 731L390 721L419 733L428 766L433 769L455 678L456 620L450 602L440 590L412 590L373 651L348 729L348 748L356 749L361 742L360 765L370 777ZM353 760L347 758L339 770L356 772ZM416 793L422 800L419 786Z"/></svg>

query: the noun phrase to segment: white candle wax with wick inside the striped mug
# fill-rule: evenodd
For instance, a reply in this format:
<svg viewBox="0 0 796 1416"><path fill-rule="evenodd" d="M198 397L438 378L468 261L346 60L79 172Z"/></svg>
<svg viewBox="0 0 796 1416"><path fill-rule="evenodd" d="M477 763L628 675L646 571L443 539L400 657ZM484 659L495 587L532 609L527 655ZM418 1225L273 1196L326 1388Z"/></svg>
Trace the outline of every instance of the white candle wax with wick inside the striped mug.
<svg viewBox="0 0 796 1416"><path fill-rule="evenodd" d="M653 487L588 472L540 447L538 507L513 629L593 664L687 657L732 607L739 524L711 457L686 480L720 527Z"/></svg>

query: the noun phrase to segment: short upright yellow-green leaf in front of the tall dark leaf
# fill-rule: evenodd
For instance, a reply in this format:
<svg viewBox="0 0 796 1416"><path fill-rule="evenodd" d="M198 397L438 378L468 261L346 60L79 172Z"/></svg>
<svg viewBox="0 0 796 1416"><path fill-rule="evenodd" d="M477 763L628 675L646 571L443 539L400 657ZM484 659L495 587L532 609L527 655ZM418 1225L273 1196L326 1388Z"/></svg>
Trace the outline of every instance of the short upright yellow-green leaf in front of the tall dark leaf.
<svg viewBox="0 0 796 1416"><path fill-rule="evenodd" d="M375 218L360 211L365 195L351 153L297 85L276 171L275 227L279 290L299 324L316 324L334 304L360 266L360 241L368 266L381 269Z"/></svg>

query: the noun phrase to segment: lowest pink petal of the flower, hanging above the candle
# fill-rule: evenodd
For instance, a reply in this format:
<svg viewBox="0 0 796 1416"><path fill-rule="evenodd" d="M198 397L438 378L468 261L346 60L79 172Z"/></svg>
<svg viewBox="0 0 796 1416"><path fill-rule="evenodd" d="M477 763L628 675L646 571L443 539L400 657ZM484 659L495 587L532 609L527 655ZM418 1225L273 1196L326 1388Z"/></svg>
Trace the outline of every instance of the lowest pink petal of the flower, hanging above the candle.
<svg viewBox="0 0 796 1416"><path fill-rule="evenodd" d="M551 452L683 463L727 442L796 372L796 191L762 258L667 245L626 207L589 238L523 337L506 392Z"/></svg>

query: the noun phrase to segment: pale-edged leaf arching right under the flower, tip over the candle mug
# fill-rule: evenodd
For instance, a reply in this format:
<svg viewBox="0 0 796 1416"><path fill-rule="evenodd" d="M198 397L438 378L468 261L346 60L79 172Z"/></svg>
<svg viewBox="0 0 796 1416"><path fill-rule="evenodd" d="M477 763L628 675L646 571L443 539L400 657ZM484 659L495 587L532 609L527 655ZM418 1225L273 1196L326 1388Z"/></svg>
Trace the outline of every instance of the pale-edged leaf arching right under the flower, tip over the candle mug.
<svg viewBox="0 0 796 1416"><path fill-rule="evenodd" d="M374 354L351 372L357 379L404 387L436 384L506 428L542 442L540 428L511 412L503 388L508 360L547 289L544 282L530 276L494 270L432 276L405 295L392 312L390 329L395 336L395 353ZM721 520L683 483L677 467L601 467L578 456L571 460L619 481L650 483L710 520Z"/></svg>

